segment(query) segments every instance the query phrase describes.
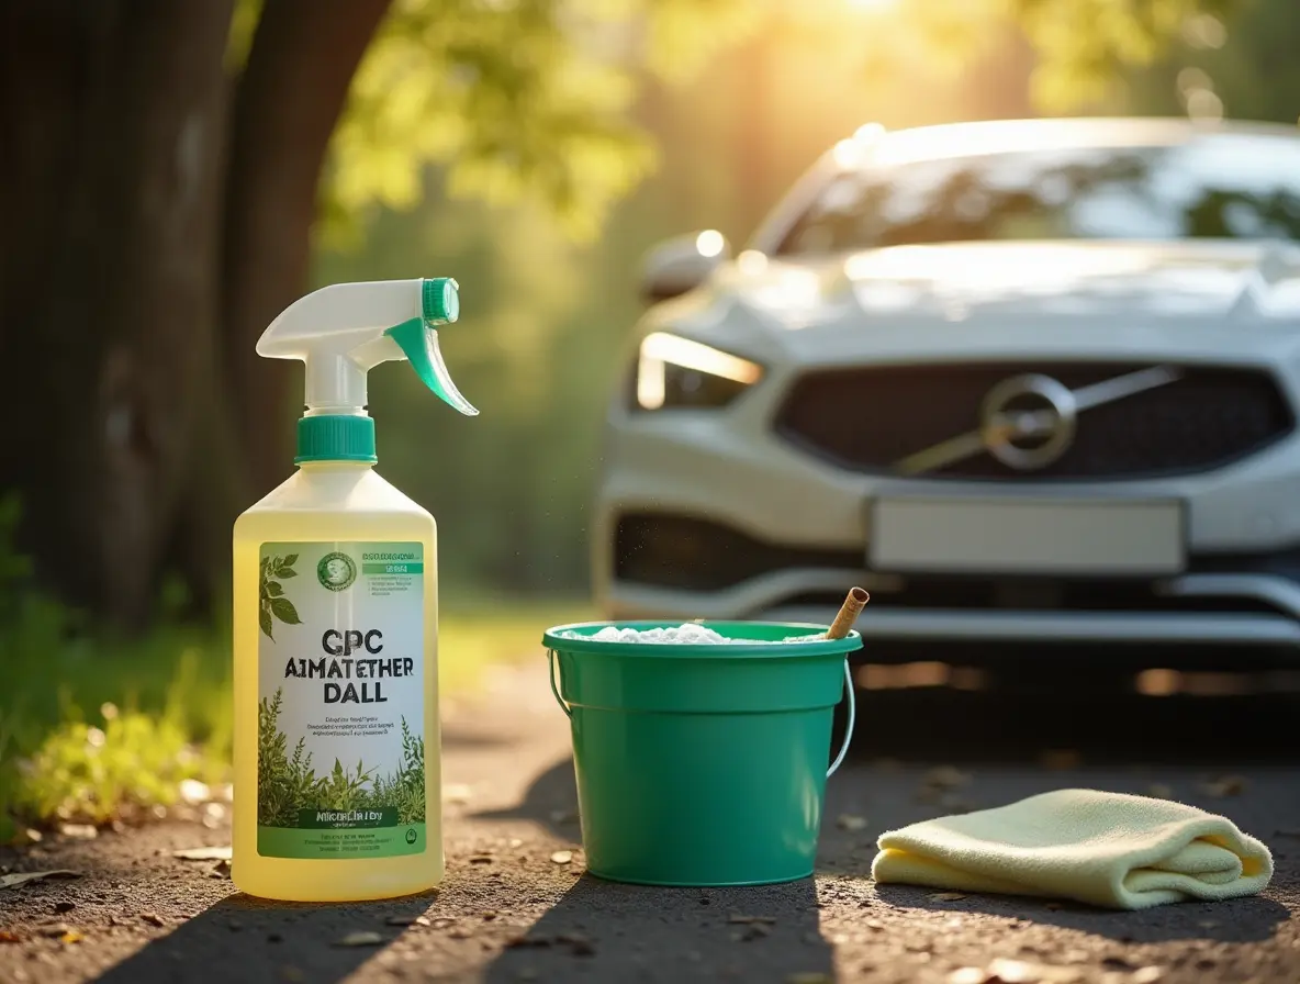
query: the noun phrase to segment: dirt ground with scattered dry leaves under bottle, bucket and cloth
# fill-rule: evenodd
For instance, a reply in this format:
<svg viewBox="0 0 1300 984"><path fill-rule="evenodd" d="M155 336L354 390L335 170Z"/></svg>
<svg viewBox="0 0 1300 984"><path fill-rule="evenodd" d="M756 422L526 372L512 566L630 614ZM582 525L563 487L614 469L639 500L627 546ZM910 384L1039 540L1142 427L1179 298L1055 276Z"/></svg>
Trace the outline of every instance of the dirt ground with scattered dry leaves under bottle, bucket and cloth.
<svg viewBox="0 0 1300 984"><path fill-rule="evenodd" d="M948 810L918 799L922 766L853 760L828 790L815 879L728 890L602 883L582 868L567 721L542 668L529 667L446 708L439 892L263 903L218 863L173 857L228 844L213 819L52 837L0 853L0 871L81 872L0 890L0 981L1300 981L1300 766L1238 770L1242 780L1216 790L1192 766L1153 776L1052 764L963 766L970 783L950 796L992 806L1063 785L1150 793L1158 781L1268 842L1271 887L1143 914L878 888L876 836ZM572 861L552 859L560 850Z"/></svg>

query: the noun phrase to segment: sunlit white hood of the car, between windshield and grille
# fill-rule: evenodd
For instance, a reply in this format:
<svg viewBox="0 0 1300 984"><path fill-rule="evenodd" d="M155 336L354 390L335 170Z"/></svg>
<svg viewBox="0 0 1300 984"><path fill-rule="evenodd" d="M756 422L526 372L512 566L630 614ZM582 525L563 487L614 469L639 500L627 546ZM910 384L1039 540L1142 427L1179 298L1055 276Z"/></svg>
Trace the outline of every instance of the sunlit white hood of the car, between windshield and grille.
<svg viewBox="0 0 1300 984"><path fill-rule="evenodd" d="M797 263L742 253L649 326L820 361L918 348L1217 352L1243 331L1290 339L1296 320L1300 248L1286 243L1017 242Z"/></svg>

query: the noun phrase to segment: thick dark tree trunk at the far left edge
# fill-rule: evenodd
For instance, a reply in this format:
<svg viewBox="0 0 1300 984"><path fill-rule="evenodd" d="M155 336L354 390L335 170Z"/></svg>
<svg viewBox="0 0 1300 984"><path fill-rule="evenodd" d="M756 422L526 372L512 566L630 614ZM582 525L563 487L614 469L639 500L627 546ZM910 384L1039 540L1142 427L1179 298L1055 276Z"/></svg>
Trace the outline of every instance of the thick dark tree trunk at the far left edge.
<svg viewBox="0 0 1300 984"><path fill-rule="evenodd" d="M126 624L148 614L213 370L230 12L0 10L0 482L42 580Z"/></svg>

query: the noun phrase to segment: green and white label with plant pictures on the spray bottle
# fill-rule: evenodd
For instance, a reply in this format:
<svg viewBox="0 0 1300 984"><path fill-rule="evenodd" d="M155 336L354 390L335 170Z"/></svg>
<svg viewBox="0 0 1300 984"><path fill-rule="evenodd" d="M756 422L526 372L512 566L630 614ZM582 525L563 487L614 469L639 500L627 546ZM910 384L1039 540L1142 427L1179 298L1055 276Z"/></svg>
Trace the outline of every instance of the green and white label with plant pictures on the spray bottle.
<svg viewBox="0 0 1300 984"><path fill-rule="evenodd" d="M424 853L424 547L263 543L260 564L257 853Z"/></svg>

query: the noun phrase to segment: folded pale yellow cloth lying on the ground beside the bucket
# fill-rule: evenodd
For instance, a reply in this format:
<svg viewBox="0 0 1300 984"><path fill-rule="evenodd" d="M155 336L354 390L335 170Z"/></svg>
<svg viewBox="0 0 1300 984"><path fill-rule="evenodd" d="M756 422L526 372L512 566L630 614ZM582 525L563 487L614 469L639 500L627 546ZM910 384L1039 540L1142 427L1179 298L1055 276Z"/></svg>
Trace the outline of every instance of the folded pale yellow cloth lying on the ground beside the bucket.
<svg viewBox="0 0 1300 984"><path fill-rule="evenodd" d="M1273 855L1223 816L1095 789L1060 789L1009 806L889 831L880 883L1072 898L1112 909L1252 896Z"/></svg>

